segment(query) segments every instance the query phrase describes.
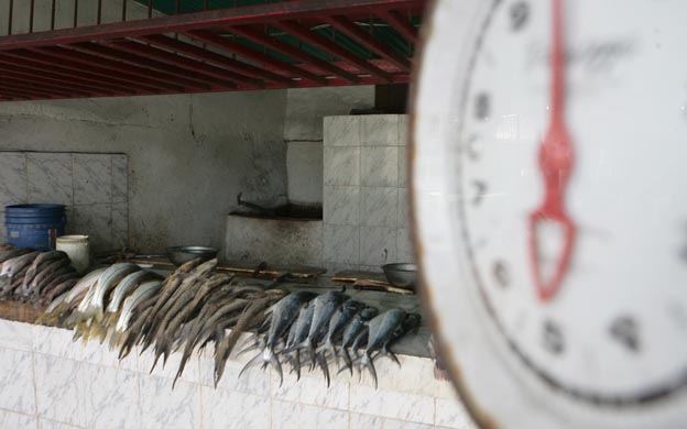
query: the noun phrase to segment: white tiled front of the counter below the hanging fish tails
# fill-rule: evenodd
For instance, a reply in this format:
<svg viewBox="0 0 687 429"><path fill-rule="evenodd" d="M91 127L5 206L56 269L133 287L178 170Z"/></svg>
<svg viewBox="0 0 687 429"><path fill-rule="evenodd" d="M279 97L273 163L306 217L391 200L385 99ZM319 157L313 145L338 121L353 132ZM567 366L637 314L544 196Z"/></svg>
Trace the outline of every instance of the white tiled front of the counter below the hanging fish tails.
<svg viewBox="0 0 687 429"><path fill-rule="evenodd" d="M402 367L378 361L379 388L367 374L338 375L330 388L320 374L280 386L271 371L242 378L230 360L217 388L211 352L189 361L172 389L173 354L151 374L151 355L134 350L123 361L97 342L72 342L72 332L0 320L1 428L165 429L472 429L447 382L428 359L400 356Z"/></svg>

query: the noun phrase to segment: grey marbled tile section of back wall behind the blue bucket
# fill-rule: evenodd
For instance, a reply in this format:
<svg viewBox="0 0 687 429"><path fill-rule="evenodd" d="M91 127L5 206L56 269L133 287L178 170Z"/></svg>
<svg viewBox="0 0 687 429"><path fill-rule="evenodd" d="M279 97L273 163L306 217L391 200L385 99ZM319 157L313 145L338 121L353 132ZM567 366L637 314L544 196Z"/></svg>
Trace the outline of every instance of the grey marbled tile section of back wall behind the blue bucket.
<svg viewBox="0 0 687 429"><path fill-rule="evenodd" d="M4 207L52 202L67 206L67 233L87 234L95 251L127 244L127 155L0 152L0 241Z"/></svg>

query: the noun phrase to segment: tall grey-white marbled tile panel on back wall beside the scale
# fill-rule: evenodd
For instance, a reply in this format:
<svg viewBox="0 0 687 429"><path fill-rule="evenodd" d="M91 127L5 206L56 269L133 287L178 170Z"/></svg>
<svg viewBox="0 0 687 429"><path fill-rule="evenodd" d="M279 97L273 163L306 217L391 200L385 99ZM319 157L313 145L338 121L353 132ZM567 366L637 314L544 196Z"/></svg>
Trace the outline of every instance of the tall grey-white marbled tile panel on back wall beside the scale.
<svg viewBox="0 0 687 429"><path fill-rule="evenodd" d="M330 272L412 262L406 189L407 116L324 122L324 258Z"/></svg>

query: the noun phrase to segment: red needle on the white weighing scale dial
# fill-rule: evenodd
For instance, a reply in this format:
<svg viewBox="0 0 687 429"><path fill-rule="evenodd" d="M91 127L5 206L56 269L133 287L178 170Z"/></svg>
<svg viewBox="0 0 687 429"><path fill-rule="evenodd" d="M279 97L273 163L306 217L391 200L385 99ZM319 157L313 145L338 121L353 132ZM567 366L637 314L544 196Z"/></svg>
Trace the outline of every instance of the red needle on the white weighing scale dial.
<svg viewBox="0 0 687 429"><path fill-rule="evenodd" d="M550 122L546 138L539 147L539 168L544 176L545 198L542 206L530 215L530 257L539 299L552 299L558 289L570 264L575 224L564 208L564 191L572 169L572 142L563 119L564 107L564 57L563 57L563 0L553 0L553 46L552 46L552 100ZM543 222L553 222L565 232L563 252L558 255L556 270L548 280L544 280L537 228Z"/></svg>

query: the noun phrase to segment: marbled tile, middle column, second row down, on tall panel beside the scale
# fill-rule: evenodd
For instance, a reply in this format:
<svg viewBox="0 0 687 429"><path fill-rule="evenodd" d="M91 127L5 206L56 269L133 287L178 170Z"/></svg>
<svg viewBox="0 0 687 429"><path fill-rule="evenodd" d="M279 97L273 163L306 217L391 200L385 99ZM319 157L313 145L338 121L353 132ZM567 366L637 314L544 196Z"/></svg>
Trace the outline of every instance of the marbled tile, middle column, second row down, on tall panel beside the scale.
<svg viewBox="0 0 687 429"><path fill-rule="evenodd" d="M399 147L362 147L360 150L362 186L399 185Z"/></svg>

